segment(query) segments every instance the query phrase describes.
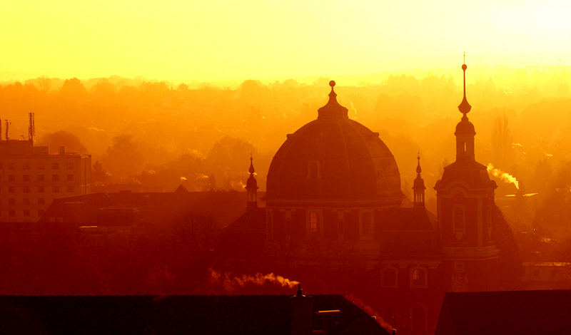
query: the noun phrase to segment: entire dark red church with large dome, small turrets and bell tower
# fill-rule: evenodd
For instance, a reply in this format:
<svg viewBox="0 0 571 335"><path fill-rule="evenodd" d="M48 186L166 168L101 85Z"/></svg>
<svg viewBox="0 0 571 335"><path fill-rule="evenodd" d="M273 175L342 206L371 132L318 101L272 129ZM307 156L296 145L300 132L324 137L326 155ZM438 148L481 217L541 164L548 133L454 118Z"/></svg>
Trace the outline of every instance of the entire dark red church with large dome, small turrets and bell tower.
<svg viewBox="0 0 571 335"><path fill-rule="evenodd" d="M248 210L228 227L236 248L251 252L235 253L233 264L279 269L312 292L366 296L399 334L433 333L444 292L496 289L496 185L475 161L466 68L456 160L435 185L436 215L425 208L420 155L410 204L390 149L348 118L331 81L318 118L287 135L274 156L265 207L251 164Z"/></svg>

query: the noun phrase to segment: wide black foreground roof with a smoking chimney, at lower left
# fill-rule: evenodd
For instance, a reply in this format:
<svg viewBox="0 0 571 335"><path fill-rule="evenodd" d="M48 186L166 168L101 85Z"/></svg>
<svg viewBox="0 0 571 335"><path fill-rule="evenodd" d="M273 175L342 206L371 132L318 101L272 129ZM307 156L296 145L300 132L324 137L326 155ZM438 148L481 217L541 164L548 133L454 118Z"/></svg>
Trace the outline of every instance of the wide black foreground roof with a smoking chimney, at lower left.
<svg viewBox="0 0 571 335"><path fill-rule="evenodd" d="M7 334L389 335L340 295L1 296Z"/></svg>

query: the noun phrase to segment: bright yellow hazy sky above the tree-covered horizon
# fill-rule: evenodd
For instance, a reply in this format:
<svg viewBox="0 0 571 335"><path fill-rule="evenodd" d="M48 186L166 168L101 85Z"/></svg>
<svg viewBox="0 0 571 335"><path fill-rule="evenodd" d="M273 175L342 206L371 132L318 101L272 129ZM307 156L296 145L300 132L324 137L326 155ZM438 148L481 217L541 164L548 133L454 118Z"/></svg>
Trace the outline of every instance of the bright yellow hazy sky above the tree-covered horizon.
<svg viewBox="0 0 571 335"><path fill-rule="evenodd" d="M0 1L0 80L571 65L568 1Z"/></svg>

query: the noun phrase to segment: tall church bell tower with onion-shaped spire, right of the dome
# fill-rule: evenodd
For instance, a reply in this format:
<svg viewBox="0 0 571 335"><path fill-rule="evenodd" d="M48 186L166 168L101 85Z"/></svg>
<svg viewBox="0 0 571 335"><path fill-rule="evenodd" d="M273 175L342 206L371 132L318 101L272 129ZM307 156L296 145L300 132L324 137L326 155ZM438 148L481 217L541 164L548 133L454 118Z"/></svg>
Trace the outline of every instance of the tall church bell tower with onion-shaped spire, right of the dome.
<svg viewBox="0 0 571 335"><path fill-rule="evenodd" d="M450 274L450 289L487 291L497 288L497 254L492 241L492 211L497 187L485 165L475 160L473 123L467 114L472 109L464 97L458 110L463 114L454 135L456 160L444 168L436 182L438 228L445 251L445 267Z"/></svg>

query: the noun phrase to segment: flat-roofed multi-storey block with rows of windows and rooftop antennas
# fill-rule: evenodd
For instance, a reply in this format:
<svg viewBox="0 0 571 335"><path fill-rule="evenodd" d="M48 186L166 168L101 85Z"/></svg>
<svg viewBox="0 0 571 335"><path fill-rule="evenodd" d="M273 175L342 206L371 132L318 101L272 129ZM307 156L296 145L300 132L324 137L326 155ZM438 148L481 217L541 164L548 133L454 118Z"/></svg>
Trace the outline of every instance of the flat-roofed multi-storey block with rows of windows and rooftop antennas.
<svg viewBox="0 0 571 335"><path fill-rule="evenodd" d="M59 197L91 192L91 155L0 137L0 222L34 222Z"/></svg>

